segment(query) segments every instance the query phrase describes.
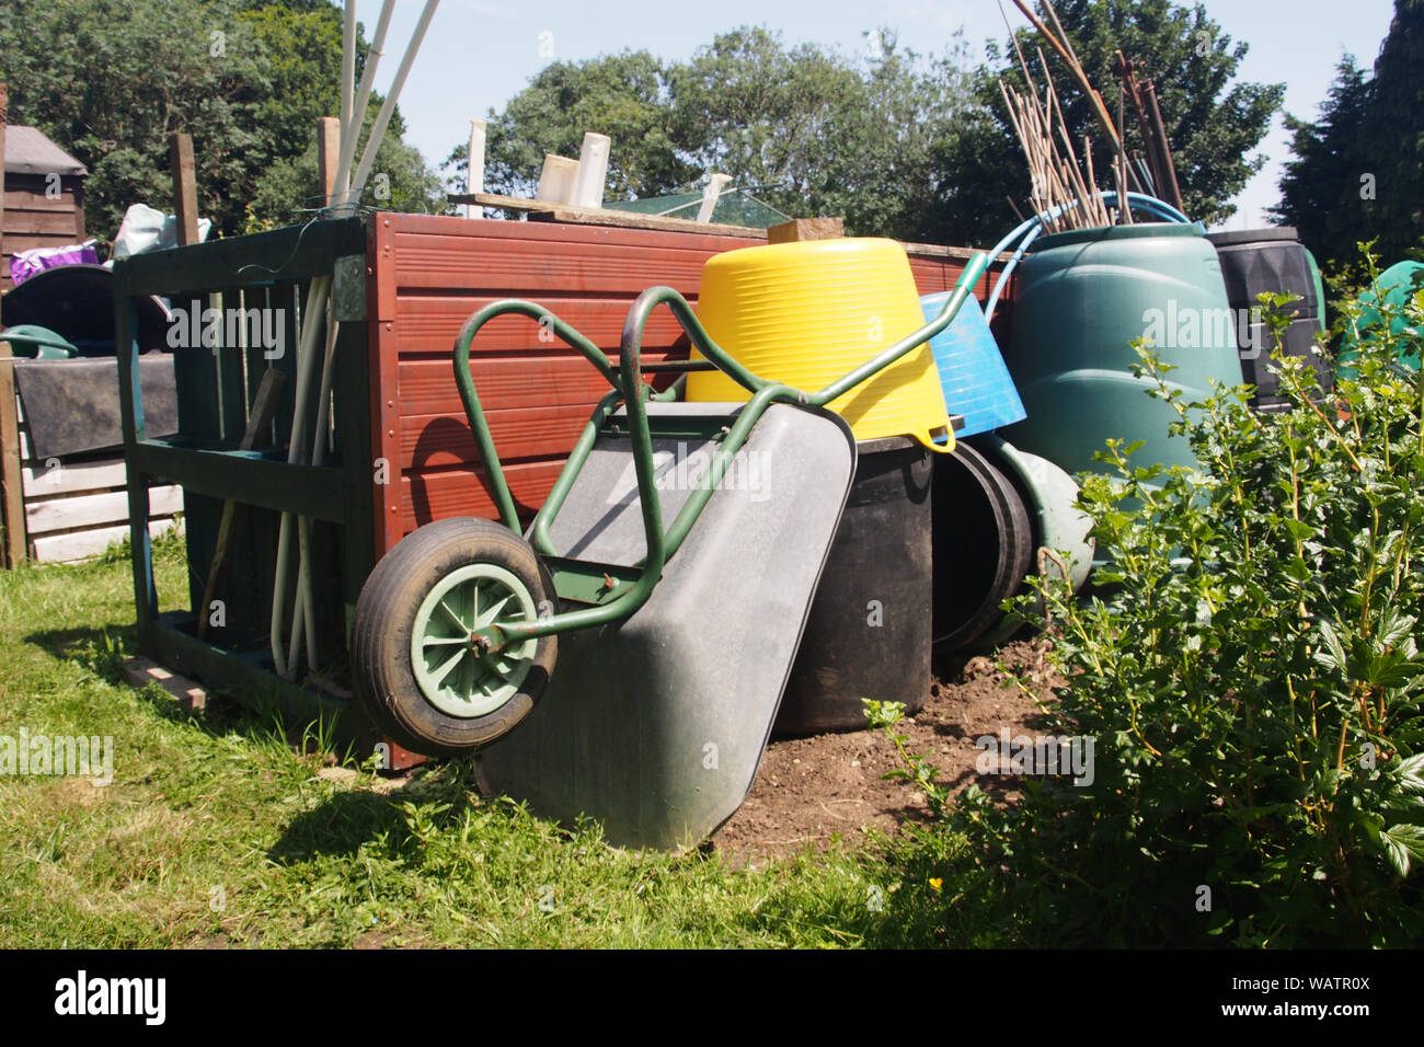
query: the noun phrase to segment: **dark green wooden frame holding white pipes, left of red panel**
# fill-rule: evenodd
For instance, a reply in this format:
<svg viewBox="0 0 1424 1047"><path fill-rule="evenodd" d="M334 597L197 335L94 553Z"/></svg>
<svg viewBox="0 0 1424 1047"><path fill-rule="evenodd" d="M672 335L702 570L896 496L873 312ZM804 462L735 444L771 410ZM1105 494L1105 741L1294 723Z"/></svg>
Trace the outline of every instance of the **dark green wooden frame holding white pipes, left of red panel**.
<svg viewBox="0 0 1424 1047"><path fill-rule="evenodd" d="M175 369L181 366L189 377L197 376L197 380L187 383L188 387L181 389L179 419L182 422L187 415L201 424L195 427L197 432L179 432L172 439L148 437L142 389L138 383L140 346L135 339L134 302L141 296L161 295L182 305L191 299L206 301L209 293L226 296L241 291L266 295L269 308L273 301L295 303L300 301L302 289L310 279L333 274L337 259L352 255L365 259L369 254L367 241L367 221L343 218L137 255L114 265L120 409L128 470L140 650L246 704L275 701L290 722L336 717L336 736L353 742L376 741L376 734L349 701L283 681L272 671L269 652L263 657L255 650L228 650L216 642L198 640L194 625L202 608L159 613L148 534L148 489L161 483L178 483L184 487L185 503L191 496L198 496L194 501L204 497L229 500L259 510L289 511L333 526L343 550L339 587L346 615L339 628L345 632L360 585L375 567L375 521L370 511L373 368L367 323L345 319L340 323L333 358L339 442L333 456L336 464L292 466L285 459L275 460L272 453L236 450L246 406L258 380L252 363L262 358L261 352L253 355L252 349L246 350L248 376L244 389L242 363L235 359L242 355L238 346L175 350L175 355L204 353L204 359L214 360L214 377L209 383L205 362L204 366L197 366L197 358L175 358ZM273 298L279 293L290 298ZM370 301L369 291L365 301ZM289 352L285 359L269 366L295 366L295 335L292 318L286 332ZM289 382L283 407L275 422L279 444L290 437L293 395L295 383ZM308 424L312 417L315 405L308 410ZM189 546L201 548L205 536L194 533L194 514L187 516ZM261 601L261 590L258 600Z"/></svg>

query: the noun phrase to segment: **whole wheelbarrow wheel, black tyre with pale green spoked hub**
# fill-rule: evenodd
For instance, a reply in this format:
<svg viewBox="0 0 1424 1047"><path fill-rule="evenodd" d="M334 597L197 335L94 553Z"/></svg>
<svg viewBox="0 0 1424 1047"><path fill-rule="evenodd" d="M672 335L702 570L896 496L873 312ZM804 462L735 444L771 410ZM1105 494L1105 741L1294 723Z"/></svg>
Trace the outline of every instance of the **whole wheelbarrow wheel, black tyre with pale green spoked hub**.
<svg viewBox="0 0 1424 1047"><path fill-rule="evenodd" d="M554 607L534 548L490 520L456 517L406 536L356 601L352 672L386 735L427 756L459 756L514 729L543 694L555 637L480 651L474 630L534 621Z"/></svg>

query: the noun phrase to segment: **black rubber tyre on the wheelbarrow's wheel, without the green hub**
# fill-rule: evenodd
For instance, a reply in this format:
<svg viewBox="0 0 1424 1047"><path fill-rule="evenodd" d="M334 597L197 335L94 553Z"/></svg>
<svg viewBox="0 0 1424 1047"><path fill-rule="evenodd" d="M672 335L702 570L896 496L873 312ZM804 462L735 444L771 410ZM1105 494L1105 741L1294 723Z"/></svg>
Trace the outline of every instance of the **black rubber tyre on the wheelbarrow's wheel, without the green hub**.
<svg viewBox="0 0 1424 1047"><path fill-rule="evenodd" d="M376 564L356 601L352 677L357 699L393 742L427 756L466 755L513 731L533 711L558 657L557 637L535 640L533 654L518 660L527 671L511 684L515 692L480 715L451 715L427 697L413 665L417 618L443 581L471 566L517 578L540 617L557 610L553 578L534 548L507 527L473 517L437 520L407 534Z"/></svg>

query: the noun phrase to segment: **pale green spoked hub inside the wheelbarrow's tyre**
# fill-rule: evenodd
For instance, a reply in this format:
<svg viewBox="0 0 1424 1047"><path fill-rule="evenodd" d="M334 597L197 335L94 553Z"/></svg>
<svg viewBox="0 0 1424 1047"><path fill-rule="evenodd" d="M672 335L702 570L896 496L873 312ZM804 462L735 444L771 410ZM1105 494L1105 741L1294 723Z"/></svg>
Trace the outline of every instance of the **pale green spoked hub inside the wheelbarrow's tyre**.
<svg viewBox="0 0 1424 1047"><path fill-rule="evenodd" d="M459 718L504 705L518 694L538 641L484 651L471 634L537 617L528 588L503 567L466 564L443 577L420 603L410 634L410 665L426 701Z"/></svg>

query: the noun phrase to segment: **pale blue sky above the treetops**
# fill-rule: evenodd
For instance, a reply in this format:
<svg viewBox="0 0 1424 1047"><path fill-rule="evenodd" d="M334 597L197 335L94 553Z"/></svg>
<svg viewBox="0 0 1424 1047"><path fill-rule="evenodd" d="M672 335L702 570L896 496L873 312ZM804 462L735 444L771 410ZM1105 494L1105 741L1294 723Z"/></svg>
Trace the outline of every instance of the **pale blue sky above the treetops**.
<svg viewBox="0 0 1424 1047"><path fill-rule="evenodd" d="M1393 0L1205 0L1205 6L1226 33L1250 44L1239 74L1284 83L1286 110L1310 118L1341 54L1373 64L1394 10ZM422 7L423 0L396 4L376 77L379 90L394 75ZM1007 0L1005 7L1014 24L1021 24ZM380 0L357 0L356 10L369 37ZM765 24L789 41L809 40L847 53L862 53L864 33L880 26L917 51L943 51L963 27L975 57L984 40L1004 37L994 0L443 0L400 95L407 141L429 161L443 161L468 138L468 118L503 108L551 61L550 53L577 61L645 47L665 58L685 58L715 34L742 24ZM1230 226L1262 224L1262 208L1276 202L1286 141L1277 118L1260 148L1269 162L1239 198L1240 214Z"/></svg>

